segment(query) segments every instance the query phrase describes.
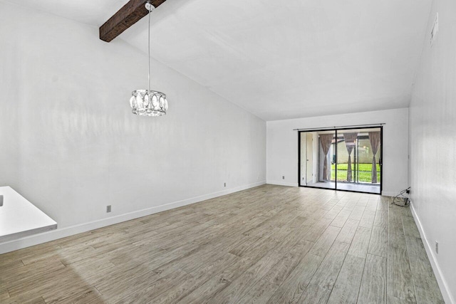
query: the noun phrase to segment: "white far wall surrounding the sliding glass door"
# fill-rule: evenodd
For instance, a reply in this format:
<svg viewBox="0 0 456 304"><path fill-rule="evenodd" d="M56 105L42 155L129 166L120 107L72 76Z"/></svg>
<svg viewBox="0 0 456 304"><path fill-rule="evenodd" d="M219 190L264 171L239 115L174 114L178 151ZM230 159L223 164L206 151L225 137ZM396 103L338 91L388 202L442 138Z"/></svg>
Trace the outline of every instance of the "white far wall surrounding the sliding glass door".
<svg viewBox="0 0 456 304"><path fill-rule="evenodd" d="M362 125L384 122L383 194L408 187L408 109L266 122L266 182L298 185L298 128ZM285 176L285 179L281 179Z"/></svg>

